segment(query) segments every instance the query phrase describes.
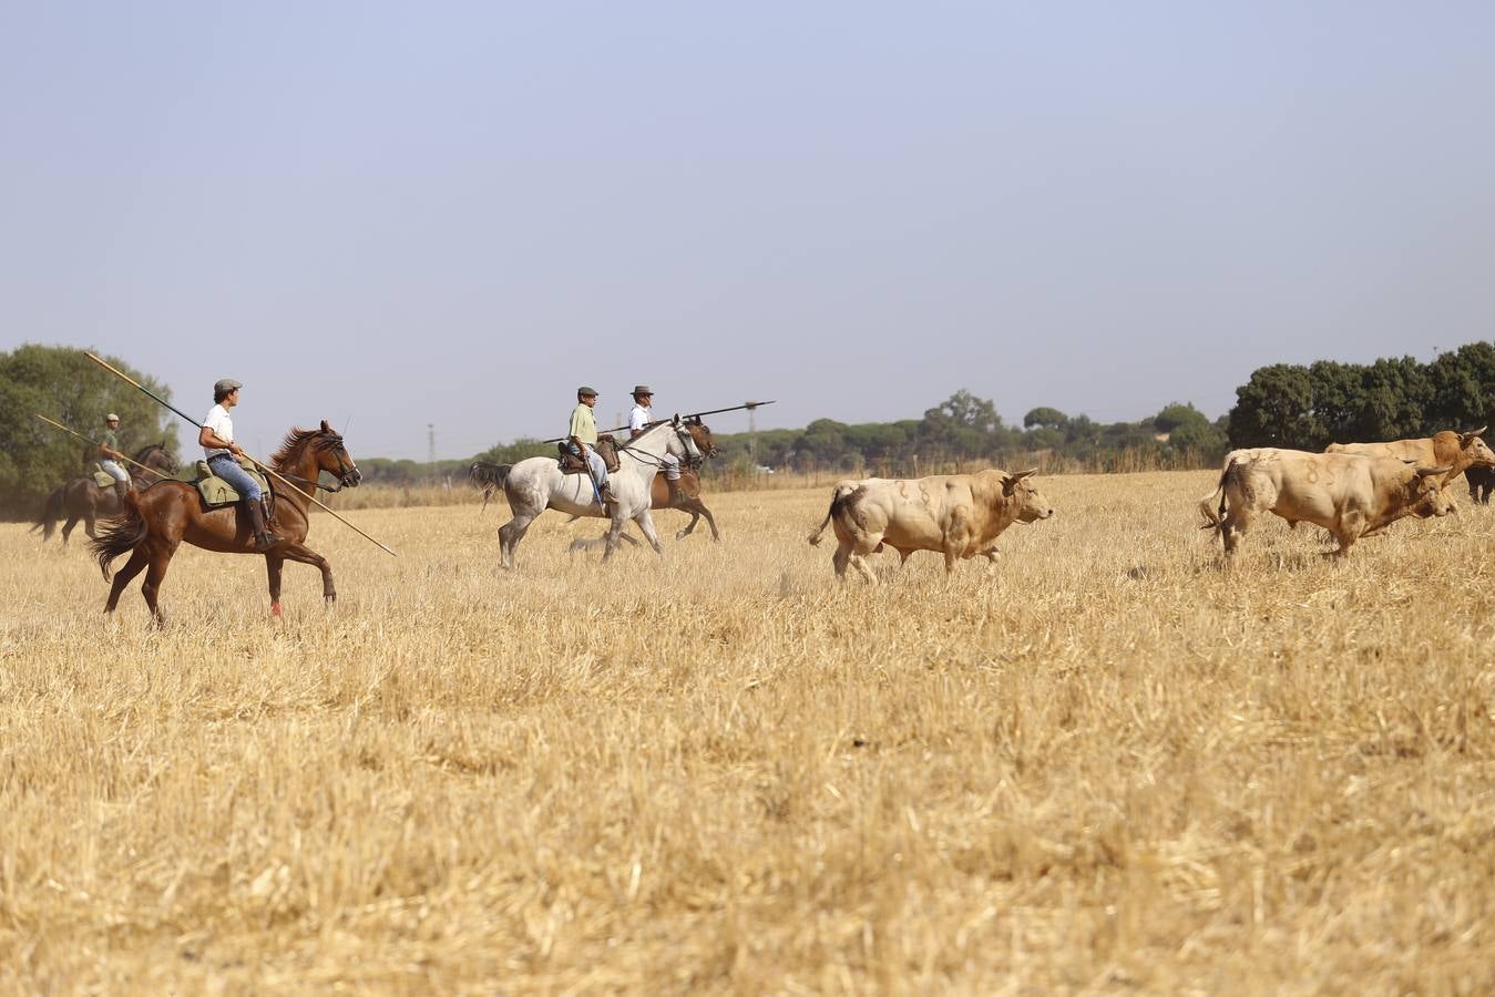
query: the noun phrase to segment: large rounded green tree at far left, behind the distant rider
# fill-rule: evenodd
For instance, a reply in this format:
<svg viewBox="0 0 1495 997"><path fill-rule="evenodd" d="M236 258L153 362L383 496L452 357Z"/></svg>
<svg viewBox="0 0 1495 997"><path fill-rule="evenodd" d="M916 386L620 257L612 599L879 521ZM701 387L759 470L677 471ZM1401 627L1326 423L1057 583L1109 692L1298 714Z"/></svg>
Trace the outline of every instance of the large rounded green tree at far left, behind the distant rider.
<svg viewBox="0 0 1495 997"><path fill-rule="evenodd" d="M152 377L120 357L103 357L158 396L170 399ZM108 413L120 416L120 448L135 453L164 442L176 456L176 427L164 408L109 374L82 350L27 344L0 353L0 495L7 516L31 517L42 499L82 471L85 444L46 426L55 419L97 439Z"/></svg>

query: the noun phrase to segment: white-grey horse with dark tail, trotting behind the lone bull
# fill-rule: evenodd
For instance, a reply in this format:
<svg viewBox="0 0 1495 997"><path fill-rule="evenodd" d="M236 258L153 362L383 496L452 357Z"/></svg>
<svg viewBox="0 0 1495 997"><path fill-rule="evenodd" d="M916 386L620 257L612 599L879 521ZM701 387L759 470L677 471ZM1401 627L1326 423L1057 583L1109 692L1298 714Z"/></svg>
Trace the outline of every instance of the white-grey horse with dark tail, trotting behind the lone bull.
<svg viewBox="0 0 1495 997"><path fill-rule="evenodd" d="M589 472L561 474L561 465L555 457L529 457L516 463L502 480L508 508L514 513L514 519L498 529L502 565L505 568L514 567L514 547L525 538L529 523L547 508L556 508L571 516L611 519L613 525L607 531L607 550L602 553L602 561L613 555L617 537L628 520L638 523L638 529L653 546L655 553L662 555L659 535L655 534L653 519L649 517L649 486L653 484L653 475L659 471L659 457L665 453L682 460L701 459L695 439L691 438L689 429L679 416L652 426L638 439L617 447L617 459L622 466L607 475L613 498L617 499L611 514L597 501L597 489L592 486Z"/></svg>

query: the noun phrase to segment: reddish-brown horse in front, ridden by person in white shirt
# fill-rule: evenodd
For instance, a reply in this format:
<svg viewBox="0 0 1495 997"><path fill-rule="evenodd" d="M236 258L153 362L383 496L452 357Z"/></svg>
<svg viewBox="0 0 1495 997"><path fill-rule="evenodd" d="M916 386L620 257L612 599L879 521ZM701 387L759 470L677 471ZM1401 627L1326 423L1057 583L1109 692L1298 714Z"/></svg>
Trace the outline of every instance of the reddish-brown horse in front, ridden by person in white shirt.
<svg viewBox="0 0 1495 997"><path fill-rule="evenodd" d="M315 565L321 571L321 595L327 602L338 598L332 586L332 567L327 559L306 547L306 531L311 528L308 510L317 484L317 475L326 471L338 478L336 492L356 487L363 477L342 445L342 436L321 422L321 429L292 429L286 442L271 457L271 465L296 483L296 487L275 492L275 532L281 541L265 553L265 570L271 584L271 611L280 616L280 577L287 561ZM161 580L172 562L176 547L187 541L194 547L226 555L253 555L254 531L242 504L203 510L196 486L185 481L163 481L148 492L132 492L126 496L126 511L105 528L103 537L90 543L90 550L99 558L105 580L109 578L109 562L120 555L133 552L109 587L105 613L114 613L130 580L145 572L141 595L151 607L155 623L164 622L157 598Z"/></svg>

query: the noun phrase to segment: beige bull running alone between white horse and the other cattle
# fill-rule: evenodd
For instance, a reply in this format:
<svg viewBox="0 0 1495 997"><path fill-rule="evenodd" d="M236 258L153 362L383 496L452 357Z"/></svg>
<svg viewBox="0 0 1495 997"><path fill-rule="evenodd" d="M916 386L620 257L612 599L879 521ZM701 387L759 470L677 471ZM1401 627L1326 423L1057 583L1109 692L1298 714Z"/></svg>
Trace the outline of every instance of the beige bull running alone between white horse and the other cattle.
<svg viewBox="0 0 1495 997"><path fill-rule="evenodd" d="M819 544L827 526L839 546L831 564L845 580L854 565L867 581L878 575L866 556L893 547L904 559L915 550L945 555L945 571L955 561L982 556L996 565L994 541L1012 523L1048 519L1054 508L1029 480L1036 468L1009 474L937 474L927 478L866 478L842 481L831 492L831 507L810 543Z"/></svg>

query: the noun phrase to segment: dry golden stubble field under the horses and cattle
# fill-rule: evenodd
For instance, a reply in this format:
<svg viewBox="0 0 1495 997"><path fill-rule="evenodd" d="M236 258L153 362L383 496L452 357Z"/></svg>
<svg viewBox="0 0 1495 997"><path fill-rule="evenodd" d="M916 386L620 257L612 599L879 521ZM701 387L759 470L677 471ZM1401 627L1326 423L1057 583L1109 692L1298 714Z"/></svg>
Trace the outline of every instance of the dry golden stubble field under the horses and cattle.
<svg viewBox="0 0 1495 997"><path fill-rule="evenodd" d="M1211 483L879 589L828 489L516 574L502 507L360 510L333 611L191 550L164 632L0 526L0 988L1489 993L1495 513L1223 572Z"/></svg>

